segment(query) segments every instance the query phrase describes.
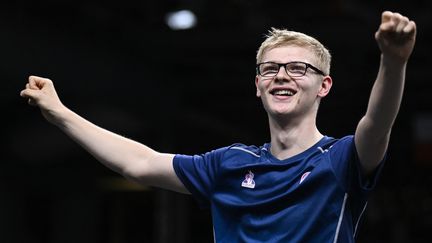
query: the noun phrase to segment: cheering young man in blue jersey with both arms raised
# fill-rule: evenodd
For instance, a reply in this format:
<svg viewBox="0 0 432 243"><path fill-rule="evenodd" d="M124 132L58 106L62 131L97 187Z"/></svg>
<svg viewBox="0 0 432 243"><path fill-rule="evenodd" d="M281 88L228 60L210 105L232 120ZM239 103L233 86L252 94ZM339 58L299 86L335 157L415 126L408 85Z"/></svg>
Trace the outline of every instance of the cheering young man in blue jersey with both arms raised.
<svg viewBox="0 0 432 243"><path fill-rule="evenodd" d="M271 141L203 155L156 152L66 108L49 79L31 76L21 96L100 162L146 185L191 193L212 211L216 242L354 242L400 106L416 26L383 12L381 64L354 135L316 127L332 86L330 54L316 39L273 29L257 54L257 96Z"/></svg>

